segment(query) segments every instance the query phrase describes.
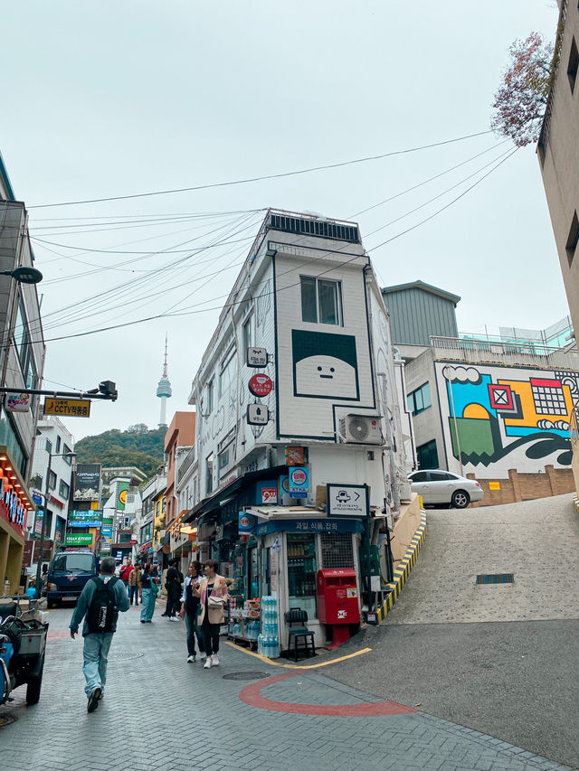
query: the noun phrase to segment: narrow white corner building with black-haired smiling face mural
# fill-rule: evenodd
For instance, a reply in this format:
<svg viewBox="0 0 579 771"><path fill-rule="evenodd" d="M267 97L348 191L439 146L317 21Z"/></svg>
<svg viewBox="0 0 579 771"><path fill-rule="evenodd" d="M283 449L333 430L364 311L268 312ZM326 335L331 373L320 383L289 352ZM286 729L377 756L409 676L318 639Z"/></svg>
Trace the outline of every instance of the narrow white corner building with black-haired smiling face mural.
<svg viewBox="0 0 579 771"><path fill-rule="evenodd" d="M410 497L402 378L357 225L269 211L193 381L196 499L184 522L239 597L276 594L280 616L306 609L319 643L318 569L355 569L361 602L364 485L374 543Z"/></svg>

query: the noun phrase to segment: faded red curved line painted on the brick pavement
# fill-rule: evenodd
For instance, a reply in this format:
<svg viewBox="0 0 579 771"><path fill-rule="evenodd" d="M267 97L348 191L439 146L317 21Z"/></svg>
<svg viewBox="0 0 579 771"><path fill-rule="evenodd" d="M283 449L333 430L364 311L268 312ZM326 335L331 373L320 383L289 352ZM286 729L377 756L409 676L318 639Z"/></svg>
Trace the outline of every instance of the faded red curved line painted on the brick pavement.
<svg viewBox="0 0 579 771"><path fill-rule="evenodd" d="M258 710L289 712L294 715L330 715L344 718L362 718L376 715L406 715L415 712L412 707L398 704L396 701L377 701L363 704L292 704L289 701L273 701L261 696L261 689L275 682L296 677L299 672L287 672L246 685L239 693L239 698Z"/></svg>

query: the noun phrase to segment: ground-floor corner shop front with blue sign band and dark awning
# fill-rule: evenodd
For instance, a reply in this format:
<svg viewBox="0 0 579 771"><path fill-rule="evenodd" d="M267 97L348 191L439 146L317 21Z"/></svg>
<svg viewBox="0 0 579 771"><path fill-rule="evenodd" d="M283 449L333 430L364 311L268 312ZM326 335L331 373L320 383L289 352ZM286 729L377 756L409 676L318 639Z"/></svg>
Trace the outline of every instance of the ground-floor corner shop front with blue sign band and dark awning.
<svg viewBox="0 0 579 771"><path fill-rule="evenodd" d="M284 616L291 608L307 611L308 628L321 646L330 633L318 620L318 569L355 569L361 602L359 548L365 523L303 506L263 505L262 488L279 489L282 471L287 468L245 475L186 512L183 523L197 528L196 559L218 560L238 608L247 600L277 597L284 650ZM247 515L252 526L243 533L240 518Z"/></svg>

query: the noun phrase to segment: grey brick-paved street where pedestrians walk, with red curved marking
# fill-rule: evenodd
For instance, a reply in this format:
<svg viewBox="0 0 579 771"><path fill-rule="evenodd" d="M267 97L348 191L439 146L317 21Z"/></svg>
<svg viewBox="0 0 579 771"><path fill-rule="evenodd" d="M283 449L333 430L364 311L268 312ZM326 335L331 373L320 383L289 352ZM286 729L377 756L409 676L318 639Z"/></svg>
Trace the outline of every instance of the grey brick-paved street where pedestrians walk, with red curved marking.
<svg viewBox="0 0 579 771"><path fill-rule="evenodd" d="M187 664L183 625L157 616L152 625L140 625L134 608L121 616L111 647L106 698L89 715L81 641L66 631L70 613L51 612L40 703L26 708L20 689L0 708L0 717L18 718L0 729L3 771L562 767L414 711L410 691L403 703L393 703L338 683L327 677L332 667L286 671L226 645L219 668ZM249 680L256 670L266 679ZM224 678L236 673L245 679Z"/></svg>

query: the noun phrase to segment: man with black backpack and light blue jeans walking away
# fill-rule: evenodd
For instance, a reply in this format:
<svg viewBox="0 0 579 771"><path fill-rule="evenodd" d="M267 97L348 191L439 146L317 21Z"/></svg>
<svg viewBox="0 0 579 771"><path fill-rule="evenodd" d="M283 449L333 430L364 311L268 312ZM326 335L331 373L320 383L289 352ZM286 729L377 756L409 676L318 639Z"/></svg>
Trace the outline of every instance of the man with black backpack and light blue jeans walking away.
<svg viewBox="0 0 579 771"><path fill-rule="evenodd" d="M100 576L90 578L82 589L71 618L71 637L77 635L79 624L84 637L82 673L87 682L84 692L88 697L87 711L94 712L104 696L107 681L107 660L112 635L117 630L119 611L128 610L128 596L120 578L114 577L115 560L100 560Z"/></svg>

